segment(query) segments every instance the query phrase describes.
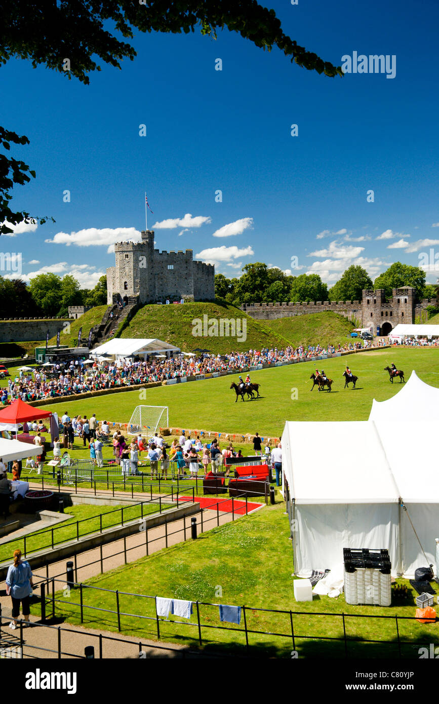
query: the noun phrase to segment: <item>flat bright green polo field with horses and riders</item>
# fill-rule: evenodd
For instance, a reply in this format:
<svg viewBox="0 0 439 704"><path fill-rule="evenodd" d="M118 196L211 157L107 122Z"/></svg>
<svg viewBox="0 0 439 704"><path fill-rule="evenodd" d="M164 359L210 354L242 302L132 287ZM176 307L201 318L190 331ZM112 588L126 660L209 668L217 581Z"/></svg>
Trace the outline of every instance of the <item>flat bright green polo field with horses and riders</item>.
<svg viewBox="0 0 439 704"><path fill-rule="evenodd" d="M415 369L427 384L439 386L437 348L393 348L325 360L324 370L334 379L331 394L310 391L315 365L305 362L251 372L252 380L261 384L261 396L245 403L235 403L236 396L229 388L238 375L227 375L146 389L146 399L141 399L139 391L127 391L83 401L65 399L61 405L44 408L58 413L67 408L70 415L96 413L99 419L129 422L140 403L168 406L171 427L231 433L257 430L279 436L286 420L367 420L373 398L383 401L402 388L398 382L390 384L388 373L383 371L391 362L405 371L406 378ZM359 377L355 390L343 389L341 375L346 363ZM297 389L297 400L291 399L295 395L291 389Z"/></svg>

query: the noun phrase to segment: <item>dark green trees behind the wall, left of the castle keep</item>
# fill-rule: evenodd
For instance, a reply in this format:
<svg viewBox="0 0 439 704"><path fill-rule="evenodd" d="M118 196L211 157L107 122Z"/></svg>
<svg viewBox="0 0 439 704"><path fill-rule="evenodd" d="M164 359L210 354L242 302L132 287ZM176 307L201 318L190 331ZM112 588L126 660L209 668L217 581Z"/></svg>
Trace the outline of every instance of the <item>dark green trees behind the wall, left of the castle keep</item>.
<svg viewBox="0 0 439 704"><path fill-rule="evenodd" d="M101 276L94 289L81 289L70 275L39 274L30 284L0 277L0 318L67 316L69 306L103 306L106 302L106 276Z"/></svg>

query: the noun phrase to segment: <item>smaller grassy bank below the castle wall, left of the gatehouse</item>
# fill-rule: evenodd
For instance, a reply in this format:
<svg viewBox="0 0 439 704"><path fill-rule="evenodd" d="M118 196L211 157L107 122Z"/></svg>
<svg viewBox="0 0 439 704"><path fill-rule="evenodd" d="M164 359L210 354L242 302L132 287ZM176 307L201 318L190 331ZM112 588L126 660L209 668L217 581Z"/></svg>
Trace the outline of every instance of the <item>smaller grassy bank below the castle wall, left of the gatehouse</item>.
<svg viewBox="0 0 439 704"><path fill-rule="evenodd" d="M277 320L265 320L265 324L286 337L290 344L303 345L326 345L328 343L337 345L344 344L350 338L350 333L354 327L348 318L343 315L333 313L309 313L307 315L295 315L293 318L278 318Z"/></svg>

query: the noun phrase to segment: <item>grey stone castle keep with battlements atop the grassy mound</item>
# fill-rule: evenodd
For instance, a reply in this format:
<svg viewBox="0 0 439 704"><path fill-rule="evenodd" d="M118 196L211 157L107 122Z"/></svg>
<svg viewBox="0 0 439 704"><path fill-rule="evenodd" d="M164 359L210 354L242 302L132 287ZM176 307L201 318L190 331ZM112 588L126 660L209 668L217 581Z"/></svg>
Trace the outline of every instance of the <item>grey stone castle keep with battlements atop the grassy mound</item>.
<svg viewBox="0 0 439 704"><path fill-rule="evenodd" d="M117 242L114 267L107 269L107 303L138 298L139 303L215 300L215 267L193 261L192 250L160 252L154 232L141 233L141 242Z"/></svg>

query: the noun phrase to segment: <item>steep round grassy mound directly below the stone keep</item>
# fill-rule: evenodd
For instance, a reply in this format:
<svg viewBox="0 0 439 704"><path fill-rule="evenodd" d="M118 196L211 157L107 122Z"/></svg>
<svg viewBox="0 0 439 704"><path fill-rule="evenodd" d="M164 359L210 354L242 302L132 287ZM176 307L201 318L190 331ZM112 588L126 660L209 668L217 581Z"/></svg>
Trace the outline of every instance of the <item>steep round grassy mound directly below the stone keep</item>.
<svg viewBox="0 0 439 704"><path fill-rule="evenodd" d="M193 337L192 321L194 318L203 320L203 315L208 315L208 319L246 319L246 339L239 342L237 337ZM267 346L284 347L288 344L284 337L267 327L265 322L253 320L239 308L222 306L219 303L144 306L134 315L120 337L157 337L189 352L202 348L210 349L215 353L227 353Z"/></svg>

